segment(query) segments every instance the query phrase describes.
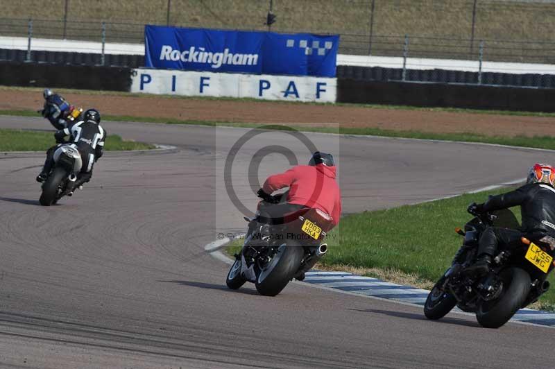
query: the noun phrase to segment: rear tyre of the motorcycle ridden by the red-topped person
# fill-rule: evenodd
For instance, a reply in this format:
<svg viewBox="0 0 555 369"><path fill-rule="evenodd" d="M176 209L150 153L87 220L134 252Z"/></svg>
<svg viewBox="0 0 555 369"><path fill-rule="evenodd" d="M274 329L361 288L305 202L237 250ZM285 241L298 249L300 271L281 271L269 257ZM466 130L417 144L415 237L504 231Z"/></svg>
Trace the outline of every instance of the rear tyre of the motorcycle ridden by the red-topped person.
<svg viewBox="0 0 555 369"><path fill-rule="evenodd" d="M264 296L278 295L293 279L304 256L305 250L296 242L280 246L273 259L258 274L258 293Z"/></svg>

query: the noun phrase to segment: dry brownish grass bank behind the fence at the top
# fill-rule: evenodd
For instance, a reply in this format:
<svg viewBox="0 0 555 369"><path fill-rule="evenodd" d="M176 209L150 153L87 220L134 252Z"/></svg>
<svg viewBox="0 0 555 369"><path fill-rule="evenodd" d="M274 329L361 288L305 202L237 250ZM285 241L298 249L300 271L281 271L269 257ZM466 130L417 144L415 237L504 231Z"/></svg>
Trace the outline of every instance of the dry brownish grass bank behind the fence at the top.
<svg viewBox="0 0 555 369"><path fill-rule="evenodd" d="M264 22L268 0L172 0L169 22L176 26L239 28L266 30ZM61 21L65 0L21 0L3 4L6 18L49 18ZM99 21L108 25L109 41L140 42L142 25L166 24L167 0L69 0L69 19L79 19L83 10L87 21L69 22L69 38L100 40ZM343 52L367 53L370 34L371 0L273 0L273 12L278 16L272 29L284 32L309 31L339 33ZM470 53L468 42L472 30L472 0L375 0L373 53L401 55L402 38L408 34L425 37L450 37L452 40L411 39L411 55L452 56L454 58L477 55L477 43ZM46 15L44 9L50 9ZM132 22L134 26L113 24ZM486 41L486 59L503 58L497 54L541 56L541 60L555 60L552 46L540 44L509 45L498 40L533 40L555 42L555 3L518 3L506 1L478 1L475 25L476 40ZM37 35L61 37L62 22L35 22ZM1 33L26 34L25 22L3 27ZM357 36L354 36L357 35ZM432 46L430 46L432 44ZM443 46L441 46L443 44ZM445 44L448 44L446 46ZM504 49L491 49L492 46ZM488 49L490 48L490 49ZM539 49L533 51L533 49ZM545 51L548 49L547 51ZM456 54L451 54L456 52ZM505 57L506 58L506 57Z"/></svg>

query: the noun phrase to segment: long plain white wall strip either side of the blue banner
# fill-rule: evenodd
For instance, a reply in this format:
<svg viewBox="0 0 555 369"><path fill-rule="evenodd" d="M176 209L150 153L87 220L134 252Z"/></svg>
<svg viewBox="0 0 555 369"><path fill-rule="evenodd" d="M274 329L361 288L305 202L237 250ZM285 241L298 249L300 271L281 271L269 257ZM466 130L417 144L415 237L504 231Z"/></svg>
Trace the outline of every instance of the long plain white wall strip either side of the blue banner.
<svg viewBox="0 0 555 369"><path fill-rule="evenodd" d="M27 49L26 37L0 37L0 49ZM100 42L50 40L35 38L31 42L32 50L76 51L80 53L101 53ZM105 44L105 53L144 55L144 44ZM389 56L337 55L337 65L355 65L360 67L402 68L403 59ZM447 69L453 71L478 71L477 60L452 60L430 58L408 58L409 69ZM488 62L482 65L482 71L493 71L511 74L555 74L555 65Z"/></svg>

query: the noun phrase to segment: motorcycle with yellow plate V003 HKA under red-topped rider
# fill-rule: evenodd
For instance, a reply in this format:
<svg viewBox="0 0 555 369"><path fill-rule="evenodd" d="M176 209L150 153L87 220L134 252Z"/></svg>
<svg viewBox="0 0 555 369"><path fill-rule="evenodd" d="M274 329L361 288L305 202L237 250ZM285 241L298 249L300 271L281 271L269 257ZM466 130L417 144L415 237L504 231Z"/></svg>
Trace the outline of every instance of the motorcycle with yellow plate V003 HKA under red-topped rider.
<svg viewBox="0 0 555 369"><path fill-rule="evenodd" d="M258 203L257 216L263 207L285 198L287 194L265 197ZM278 295L293 278L304 279L305 272L327 252L325 236L333 227L330 215L310 207L285 214L280 225L245 220L249 225L244 245L225 282L230 289L252 282L266 296Z"/></svg>

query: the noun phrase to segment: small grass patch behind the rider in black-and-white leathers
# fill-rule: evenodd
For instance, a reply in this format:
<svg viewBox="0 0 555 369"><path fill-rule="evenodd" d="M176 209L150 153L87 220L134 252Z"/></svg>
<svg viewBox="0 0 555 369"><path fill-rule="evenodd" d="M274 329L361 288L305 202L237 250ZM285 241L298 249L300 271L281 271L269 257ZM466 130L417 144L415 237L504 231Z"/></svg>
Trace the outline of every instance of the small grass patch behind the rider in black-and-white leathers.
<svg viewBox="0 0 555 369"><path fill-rule="evenodd" d="M0 129L0 151L46 151L54 144L51 132L33 130ZM155 148L151 144L126 141L118 135L106 137L107 151L147 150Z"/></svg>

